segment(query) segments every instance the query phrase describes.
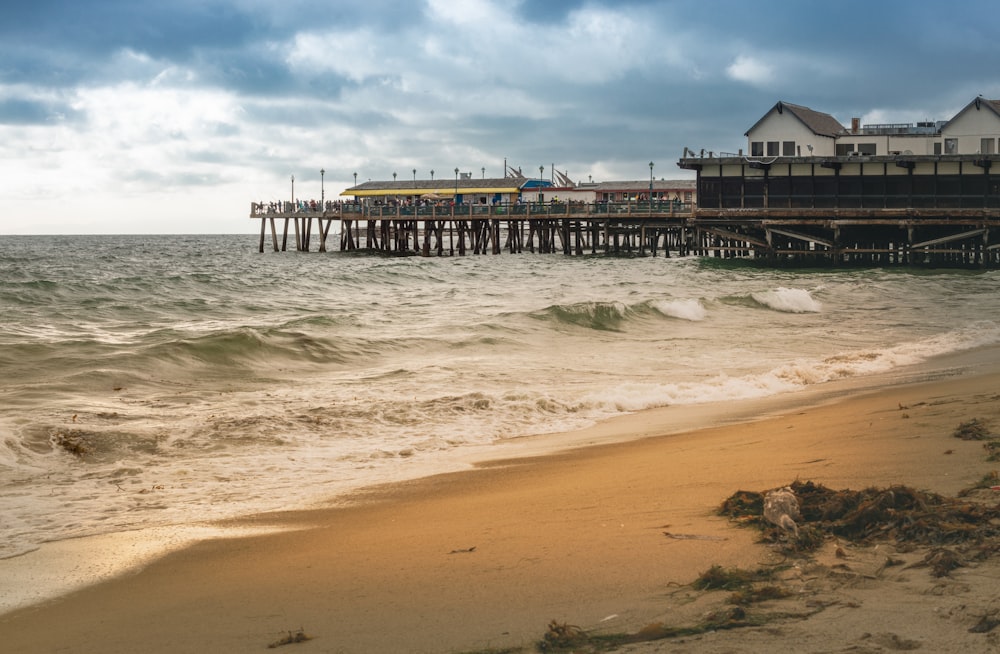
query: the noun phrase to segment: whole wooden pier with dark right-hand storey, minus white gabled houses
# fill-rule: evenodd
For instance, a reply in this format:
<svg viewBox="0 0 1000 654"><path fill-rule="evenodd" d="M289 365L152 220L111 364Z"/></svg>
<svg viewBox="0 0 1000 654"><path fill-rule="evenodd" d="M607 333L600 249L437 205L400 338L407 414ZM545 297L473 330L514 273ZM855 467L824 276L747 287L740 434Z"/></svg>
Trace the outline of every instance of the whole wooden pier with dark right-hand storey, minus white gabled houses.
<svg viewBox="0 0 1000 654"><path fill-rule="evenodd" d="M695 205L650 202L650 180L649 194L626 202L529 201L549 189L504 188L508 195L493 197L508 201L490 204L387 195L315 208L254 203L250 217L260 220L261 252L268 232L276 252L326 252L332 233L340 251L387 255L662 253L774 266L995 268L998 162L1000 155L691 157L678 165L697 171ZM462 190L456 181L454 197Z"/></svg>

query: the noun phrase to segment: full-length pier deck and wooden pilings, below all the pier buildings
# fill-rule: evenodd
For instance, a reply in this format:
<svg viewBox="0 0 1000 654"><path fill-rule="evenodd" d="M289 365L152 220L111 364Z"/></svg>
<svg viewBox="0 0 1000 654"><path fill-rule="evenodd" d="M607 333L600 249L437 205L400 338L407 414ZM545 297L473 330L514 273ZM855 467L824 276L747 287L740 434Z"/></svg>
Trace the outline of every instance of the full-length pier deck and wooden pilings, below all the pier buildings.
<svg viewBox="0 0 1000 654"><path fill-rule="evenodd" d="M269 210L270 209L270 210ZM1000 266L1000 210L744 208L664 203L530 203L276 210L253 204L260 252L466 256L751 258L768 265ZM336 224L336 229L334 225ZM331 234L336 241L331 247Z"/></svg>

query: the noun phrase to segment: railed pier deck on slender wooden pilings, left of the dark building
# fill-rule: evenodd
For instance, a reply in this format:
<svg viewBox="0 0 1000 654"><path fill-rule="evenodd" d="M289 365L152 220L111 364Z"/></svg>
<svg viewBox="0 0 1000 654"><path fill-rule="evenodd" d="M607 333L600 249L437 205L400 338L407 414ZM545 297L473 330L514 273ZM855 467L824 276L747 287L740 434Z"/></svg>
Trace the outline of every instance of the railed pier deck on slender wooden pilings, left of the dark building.
<svg viewBox="0 0 1000 654"><path fill-rule="evenodd" d="M679 202L547 202L508 205L368 205L329 203L294 210L254 203L260 220L260 252L270 233L275 252L292 248L371 251L406 256L465 256L502 252L541 254L634 254L691 252L690 205ZM270 228L270 229L268 229ZM289 238L294 238L289 243ZM314 246L315 240L315 246Z"/></svg>

